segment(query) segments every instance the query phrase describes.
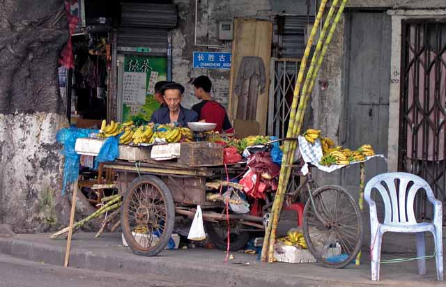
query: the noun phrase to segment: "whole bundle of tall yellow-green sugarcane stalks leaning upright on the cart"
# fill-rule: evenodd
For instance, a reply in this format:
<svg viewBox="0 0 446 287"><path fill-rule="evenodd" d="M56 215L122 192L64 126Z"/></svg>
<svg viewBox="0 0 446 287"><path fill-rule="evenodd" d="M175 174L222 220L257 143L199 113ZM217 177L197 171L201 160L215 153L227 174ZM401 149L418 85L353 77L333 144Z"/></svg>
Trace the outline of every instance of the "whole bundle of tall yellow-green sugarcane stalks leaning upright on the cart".
<svg viewBox="0 0 446 287"><path fill-rule="evenodd" d="M312 94L318 70L319 68L321 68L323 57L327 52L327 47L331 42L334 29L336 28L337 23L339 22L346 1L347 0L341 0L341 4L338 6L339 0L333 0L328 15L325 18L321 35L318 38L318 43L316 45L316 49L314 50L312 62L307 71L307 76L305 77L305 82L302 86L303 77L307 65L307 59L309 57L309 52L312 47L312 42L318 30L321 18L323 17L325 6L327 5L328 2L328 0L321 1L321 6L319 7L318 14L316 16L316 21L314 22L312 32L310 33L307 42L307 47L305 48L304 57L302 58L302 62L300 63L298 81L295 84L293 103L291 104L291 112L289 118L289 127L286 133L286 137L295 138L298 136L298 134L300 134L305 114L305 109L307 107L307 101L309 99L309 96ZM334 17L334 20L332 20L332 16L334 15L335 11L337 11L337 13L336 16ZM325 37L327 31L328 35ZM302 93L300 93L301 86L302 86ZM289 168L289 166L293 164L294 153L295 149L297 148L297 144L298 143L296 141L285 141L284 144L284 156L282 157L282 166L279 176L279 186L271 210L272 221L268 225L268 228L266 229L265 238L263 240L262 256L261 256L262 261L268 261L268 262L274 261L273 253L274 253L274 245L276 238L276 228L279 220L280 211L282 209L282 205L284 202L285 189L291 174L291 168Z"/></svg>

